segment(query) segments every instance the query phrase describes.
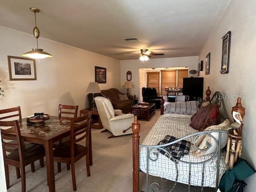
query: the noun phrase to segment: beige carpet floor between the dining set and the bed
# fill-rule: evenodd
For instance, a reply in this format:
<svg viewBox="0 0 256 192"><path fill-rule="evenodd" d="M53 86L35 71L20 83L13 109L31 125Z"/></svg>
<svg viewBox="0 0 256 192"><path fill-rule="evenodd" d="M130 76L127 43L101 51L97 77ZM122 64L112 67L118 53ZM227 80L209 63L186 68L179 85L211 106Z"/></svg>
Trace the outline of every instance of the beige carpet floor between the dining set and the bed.
<svg viewBox="0 0 256 192"><path fill-rule="evenodd" d="M156 110L156 114L150 118L150 121L139 121L141 142L159 116L160 110ZM87 177L85 158L75 164L77 192L132 192L132 135L108 139L111 133L100 133L102 130L92 129L91 176ZM26 191L47 192L46 166L41 168L39 162L36 162L35 166L34 173L31 172L30 166L26 166ZM58 173L57 163L54 163L54 170L56 192L72 192L71 171L66 170L66 165L62 164L62 171ZM16 178L15 168L9 166L9 171L11 187L8 192L21 191L21 180ZM141 182L144 183L142 180ZM141 184L142 188L144 188L143 185ZM172 187L168 183L164 185L164 188ZM180 185L175 192L186 190L186 185ZM200 189L195 191L200 191Z"/></svg>

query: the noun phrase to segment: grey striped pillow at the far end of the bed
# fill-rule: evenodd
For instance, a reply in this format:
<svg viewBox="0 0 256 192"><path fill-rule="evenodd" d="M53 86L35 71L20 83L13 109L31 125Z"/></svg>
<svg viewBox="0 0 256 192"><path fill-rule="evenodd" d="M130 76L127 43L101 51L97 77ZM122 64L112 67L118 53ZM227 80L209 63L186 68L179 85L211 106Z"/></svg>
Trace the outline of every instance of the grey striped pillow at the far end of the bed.
<svg viewBox="0 0 256 192"><path fill-rule="evenodd" d="M177 113L194 115L196 112L198 112L198 101L168 103L164 109L165 114Z"/></svg>

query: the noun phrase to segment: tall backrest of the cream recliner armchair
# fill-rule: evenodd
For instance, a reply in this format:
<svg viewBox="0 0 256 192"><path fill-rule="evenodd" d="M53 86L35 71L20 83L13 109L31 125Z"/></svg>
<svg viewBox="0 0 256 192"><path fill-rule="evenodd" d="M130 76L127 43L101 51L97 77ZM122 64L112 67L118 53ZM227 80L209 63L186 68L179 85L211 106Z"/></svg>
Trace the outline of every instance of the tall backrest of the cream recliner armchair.
<svg viewBox="0 0 256 192"><path fill-rule="evenodd" d="M110 100L105 97L96 97L95 103L97 106L100 120L104 128L109 127L109 120L115 116L114 108Z"/></svg>

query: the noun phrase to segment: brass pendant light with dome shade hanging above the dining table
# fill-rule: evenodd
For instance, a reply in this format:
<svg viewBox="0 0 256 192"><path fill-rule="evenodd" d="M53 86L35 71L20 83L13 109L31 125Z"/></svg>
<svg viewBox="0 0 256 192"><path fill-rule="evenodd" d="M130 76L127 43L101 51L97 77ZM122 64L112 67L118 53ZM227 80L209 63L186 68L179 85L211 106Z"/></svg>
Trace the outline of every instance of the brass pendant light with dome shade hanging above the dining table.
<svg viewBox="0 0 256 192"><path fill-rule="evenodd" d="M36 24L36 13L40 12L38 8L30 8L30 11L34 12L35 14L35 24ZM32 49L32 51L24 53L22 56L30 57L33 59L43 59L47 57L53 57L51 54L44 52L43 49L38 49L38 38L40 37L40 31L37 26L33 29L34 37L36 38L36 48Z"/></svg>

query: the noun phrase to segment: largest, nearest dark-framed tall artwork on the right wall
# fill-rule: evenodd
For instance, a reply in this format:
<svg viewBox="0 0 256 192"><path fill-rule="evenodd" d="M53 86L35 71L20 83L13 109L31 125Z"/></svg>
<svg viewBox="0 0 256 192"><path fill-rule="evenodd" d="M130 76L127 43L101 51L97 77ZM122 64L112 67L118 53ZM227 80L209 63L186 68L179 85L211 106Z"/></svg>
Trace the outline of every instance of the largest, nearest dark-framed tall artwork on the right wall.
<svg viewBox="0 0 256 192"><path fill-rule="evenodd" d="M222 37L222 58L220 73L228 73L231 32Z"/></svg>

